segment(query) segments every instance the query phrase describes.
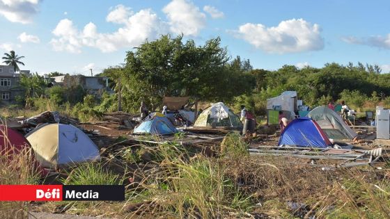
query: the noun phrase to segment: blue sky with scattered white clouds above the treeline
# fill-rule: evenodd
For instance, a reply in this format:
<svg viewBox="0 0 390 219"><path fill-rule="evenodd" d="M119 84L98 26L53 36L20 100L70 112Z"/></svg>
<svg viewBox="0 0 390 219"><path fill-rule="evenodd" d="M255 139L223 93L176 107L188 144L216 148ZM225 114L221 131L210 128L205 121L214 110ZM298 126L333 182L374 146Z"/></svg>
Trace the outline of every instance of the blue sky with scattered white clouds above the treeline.
<svg viewBox="0 0 390 219"><path fill-rule="evenodd" d="M390 72L390 1L0 0L0 53L41 74L99 73L146 38L221 37L256 68L352 62Z"/></svg>

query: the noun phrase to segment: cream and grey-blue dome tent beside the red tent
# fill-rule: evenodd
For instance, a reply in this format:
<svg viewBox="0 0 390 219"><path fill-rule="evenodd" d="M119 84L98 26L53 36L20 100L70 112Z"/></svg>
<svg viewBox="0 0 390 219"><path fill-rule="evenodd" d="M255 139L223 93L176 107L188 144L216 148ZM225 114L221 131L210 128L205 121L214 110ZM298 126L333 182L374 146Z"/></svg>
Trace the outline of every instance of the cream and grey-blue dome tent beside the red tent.
<svg viewBox="0 0 390 219"><path fill-rule="evenodd" d="M44 168L100 159L98 147L93 141L69 124L43 124L26 138Z"/></svg>

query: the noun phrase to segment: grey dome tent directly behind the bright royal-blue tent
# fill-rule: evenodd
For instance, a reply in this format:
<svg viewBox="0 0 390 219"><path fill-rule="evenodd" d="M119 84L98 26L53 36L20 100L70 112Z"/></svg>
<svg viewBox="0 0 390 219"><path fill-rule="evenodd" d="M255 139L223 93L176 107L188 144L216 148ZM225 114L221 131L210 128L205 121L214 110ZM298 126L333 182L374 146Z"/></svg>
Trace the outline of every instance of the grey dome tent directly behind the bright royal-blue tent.
<svg viewBox="0 0 390 219"><path fill-rule="evenodd" d="M328 138L341 140L353 139L357 136L357 133L345 124L340 115L327 106L318 106L314 108L307 117L315 120L315 122L320 125L321 129L325 131Z"/></svg>

